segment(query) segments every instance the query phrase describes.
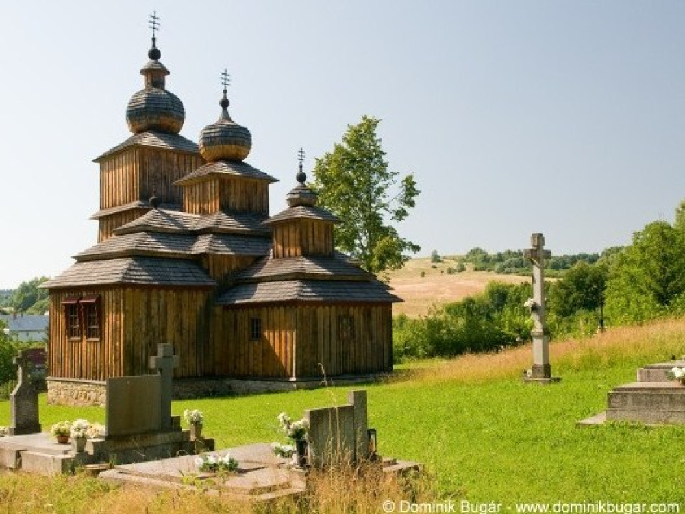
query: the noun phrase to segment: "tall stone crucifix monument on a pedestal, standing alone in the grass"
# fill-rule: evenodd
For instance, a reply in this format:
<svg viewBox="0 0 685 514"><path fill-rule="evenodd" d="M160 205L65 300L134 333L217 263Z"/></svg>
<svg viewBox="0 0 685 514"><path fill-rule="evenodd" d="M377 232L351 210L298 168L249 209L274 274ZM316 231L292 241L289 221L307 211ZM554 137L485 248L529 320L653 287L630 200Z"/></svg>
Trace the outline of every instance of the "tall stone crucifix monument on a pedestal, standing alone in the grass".
<svg viewBox="0 0 685 514"><path fill-rule="evenodd" d="M549 338L545 326L545 259L549 259L552 253L545 249L543 234L532 234L530 245L531 248L525 249L523 255L533 264L533 297L526 302L534 325L531 332L533 367L524 379L526 382L557 382L559 379L552 377L549 365Z"/></svg>

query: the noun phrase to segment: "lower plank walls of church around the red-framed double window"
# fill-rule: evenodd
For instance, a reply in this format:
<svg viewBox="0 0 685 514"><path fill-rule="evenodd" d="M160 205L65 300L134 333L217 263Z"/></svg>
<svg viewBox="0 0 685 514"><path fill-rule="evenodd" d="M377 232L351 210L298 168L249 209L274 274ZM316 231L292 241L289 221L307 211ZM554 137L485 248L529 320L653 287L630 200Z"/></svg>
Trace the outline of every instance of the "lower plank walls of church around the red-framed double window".
<svg viewBox="0 0 685 514"><path fill-rule="evenodd" d="M101 295L101 336L69 339L62 300ZM209 354L209 292L195 289L121 287L88 291L51 291L50 374L58 378L105 380L150 371L149 356L158 343L171 343L181 365L175 377L203 376Z"/></svg>

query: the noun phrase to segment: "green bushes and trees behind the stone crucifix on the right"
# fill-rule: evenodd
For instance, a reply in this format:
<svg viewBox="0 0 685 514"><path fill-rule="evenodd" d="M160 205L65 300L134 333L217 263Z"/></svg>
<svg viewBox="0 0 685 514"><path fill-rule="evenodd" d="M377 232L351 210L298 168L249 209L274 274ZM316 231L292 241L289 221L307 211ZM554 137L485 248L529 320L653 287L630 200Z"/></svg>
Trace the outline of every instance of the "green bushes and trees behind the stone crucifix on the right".
<svg viewBox="0 0 685 514"><path fill-rule="evenodd" d="M673 224L649 223L627 247L565 257L560 262L569 269L556 282L545 282L552 339L593 334L602 316L611 327L685 315L685 201ZM478 248L466 256L483 266L518 258L516 251L493 258ZM524 303L531 296L530 284L492 282L483 293L436 306L425 317L400 315L393 321L395 358L456 356L525 343L532 321Z"/></svg>

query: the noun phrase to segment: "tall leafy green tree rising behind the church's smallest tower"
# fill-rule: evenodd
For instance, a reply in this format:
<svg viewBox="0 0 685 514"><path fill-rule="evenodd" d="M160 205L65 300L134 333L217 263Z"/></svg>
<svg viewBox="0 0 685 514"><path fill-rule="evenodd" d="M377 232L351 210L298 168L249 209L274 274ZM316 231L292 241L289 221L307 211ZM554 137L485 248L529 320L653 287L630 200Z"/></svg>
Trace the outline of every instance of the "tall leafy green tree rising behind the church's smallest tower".
<svg viewBox="0 0 685 514"><path fill-rule="evenodd" d="M372 273L399 269L409 258L406 252L421 249L399 236L393 225L406 219L420 191L414 175L398 182L399 173L388 169L376 134L379 122L364 116L349 125L343 142L316 159L312 184L319 205L340 218L336 247Z"/></svg>

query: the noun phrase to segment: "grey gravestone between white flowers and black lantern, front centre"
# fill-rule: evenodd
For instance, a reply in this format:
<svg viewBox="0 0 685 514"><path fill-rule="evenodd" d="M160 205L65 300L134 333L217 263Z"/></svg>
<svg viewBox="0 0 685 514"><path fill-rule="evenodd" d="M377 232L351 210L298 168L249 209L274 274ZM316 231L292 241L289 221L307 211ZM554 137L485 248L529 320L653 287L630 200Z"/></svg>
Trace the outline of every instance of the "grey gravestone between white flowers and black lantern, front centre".
<svg viewBox="0 0 685 514"><path fill-rule="evenodd" d="M369 457L366 391L349 391L347 405L305 411L314 467L356 463Z"/></svg>

